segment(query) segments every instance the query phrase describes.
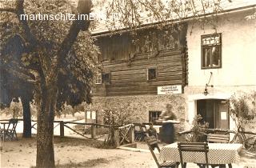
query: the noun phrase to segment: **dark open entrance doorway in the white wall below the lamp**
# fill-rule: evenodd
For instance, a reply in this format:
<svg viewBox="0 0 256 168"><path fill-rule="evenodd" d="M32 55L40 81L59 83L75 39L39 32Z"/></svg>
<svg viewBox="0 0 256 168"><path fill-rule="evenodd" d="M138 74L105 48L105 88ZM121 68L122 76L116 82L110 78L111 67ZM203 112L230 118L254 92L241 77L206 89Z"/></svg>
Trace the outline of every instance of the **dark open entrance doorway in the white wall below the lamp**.
<svg viewBox="0 0 256 168"><path fill-rule="evenodd" d="M203 122L209 122L209 128L229 129L230 114L224 99L197 100L197 114L201 114Z"/></svg>

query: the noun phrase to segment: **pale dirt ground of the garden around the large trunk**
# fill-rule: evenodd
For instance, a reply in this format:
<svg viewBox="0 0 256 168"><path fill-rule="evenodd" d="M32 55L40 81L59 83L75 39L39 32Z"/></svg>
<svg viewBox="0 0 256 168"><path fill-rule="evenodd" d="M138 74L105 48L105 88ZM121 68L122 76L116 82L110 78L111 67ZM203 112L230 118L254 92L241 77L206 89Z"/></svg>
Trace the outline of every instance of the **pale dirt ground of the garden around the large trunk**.
<svg viewBox="0 0 256 168"><path fill-rule="evenodd" d="M157 167L150 152L120 149L98 149L99 142L54 138L57 167ZM36 139L20 138L17 142L1 142L0 167L31 167L36 162ZM188 164L188 168L195 168ZM241 158L233 168L255 168L256 159Z"/></svg>

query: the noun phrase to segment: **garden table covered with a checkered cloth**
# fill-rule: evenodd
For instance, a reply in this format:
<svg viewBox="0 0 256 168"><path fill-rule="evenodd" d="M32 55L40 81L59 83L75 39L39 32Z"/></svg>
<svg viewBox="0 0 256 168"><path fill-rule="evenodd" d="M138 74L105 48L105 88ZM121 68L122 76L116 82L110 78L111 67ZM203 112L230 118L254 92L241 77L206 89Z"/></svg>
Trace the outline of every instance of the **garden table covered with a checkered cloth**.
<svg viewBox="0 0 256 168"><path fill-rule="evenodd" d="M208 162L209 164L228 164L232 167L231 163L238 162L238 152L242 150L242 144L238 143L208 143ZM206 163L204 153L187 151L182 152L184 162L194 163ZM180 162L178 143L172 143L167 146L163 146L159 159L162 161L175 161Z"/></svg>

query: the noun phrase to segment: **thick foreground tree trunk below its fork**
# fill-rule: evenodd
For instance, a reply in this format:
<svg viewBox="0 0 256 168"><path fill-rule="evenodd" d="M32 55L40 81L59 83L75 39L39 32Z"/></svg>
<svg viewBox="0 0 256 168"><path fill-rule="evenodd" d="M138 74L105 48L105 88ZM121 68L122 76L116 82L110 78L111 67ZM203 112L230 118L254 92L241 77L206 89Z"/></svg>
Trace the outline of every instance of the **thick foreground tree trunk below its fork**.
<svg viewBox="0 0 256 168"><path fill-rule="evenodd" d="M42 84L43 85L43 84ZM57 100L57 86L41 87L38 110L37 162L38 168L54 167L54 111Z"/></svg>

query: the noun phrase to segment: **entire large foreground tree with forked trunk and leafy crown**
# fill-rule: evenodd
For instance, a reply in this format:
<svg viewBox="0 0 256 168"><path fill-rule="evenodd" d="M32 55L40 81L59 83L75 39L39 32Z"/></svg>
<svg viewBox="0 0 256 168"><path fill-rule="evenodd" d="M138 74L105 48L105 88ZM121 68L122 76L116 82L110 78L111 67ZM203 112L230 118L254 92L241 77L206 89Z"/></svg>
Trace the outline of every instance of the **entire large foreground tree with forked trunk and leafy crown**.
<svg viewBox="0 0 256 168"><path fill-rule="evenodd" d="M56 107L60 108L64 102L73 106L90 102L90 86L96 70L94 56L98 51L86 31L90 26L88 20L26 20L21 15L62 12L77 17L78 13L89 14L91 5L89 0L78 1L77 11L67 0L16 0L7 1L0 8L1 45L6 46L14 36L21 38L24 52L16 71L26 74L24 78L34 83L38 106L37 167L54 167ZM5 65L10 61L8 56L1 55Z"/></svg>

